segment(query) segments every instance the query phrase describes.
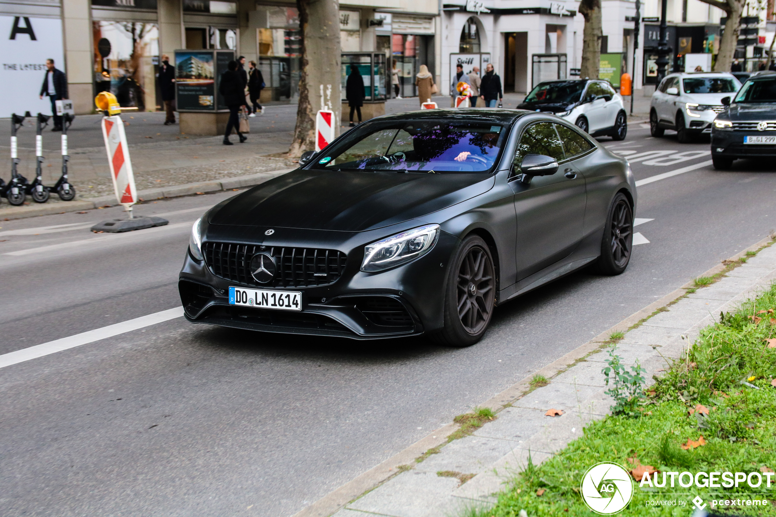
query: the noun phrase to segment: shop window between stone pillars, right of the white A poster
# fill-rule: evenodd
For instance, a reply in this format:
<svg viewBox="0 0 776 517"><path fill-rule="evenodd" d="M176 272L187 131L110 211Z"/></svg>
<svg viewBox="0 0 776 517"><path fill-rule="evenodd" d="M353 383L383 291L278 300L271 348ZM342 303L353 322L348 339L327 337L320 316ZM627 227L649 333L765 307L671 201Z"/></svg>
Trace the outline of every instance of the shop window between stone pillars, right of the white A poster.
<svg viewBox="0 0 776 517"><path fill-rule="evenodd" d="M149 22L92 22L96 91L110 91L123 107L159 109L156 74L159 29ZM102 54L106 54L104 57Z"/></svg>

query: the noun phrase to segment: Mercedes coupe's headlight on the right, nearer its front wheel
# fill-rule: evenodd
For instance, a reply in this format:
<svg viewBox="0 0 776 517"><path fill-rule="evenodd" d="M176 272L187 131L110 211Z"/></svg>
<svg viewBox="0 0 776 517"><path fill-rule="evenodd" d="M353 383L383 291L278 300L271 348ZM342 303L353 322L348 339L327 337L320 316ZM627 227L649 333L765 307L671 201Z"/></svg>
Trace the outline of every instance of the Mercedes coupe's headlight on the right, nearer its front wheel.
<svg viewBox="0 0 776 517"><path fill-rule="evenodd" d="M378 240L364 246L361 271L374 273L407 264L431 251L438 238L439 225L431 224Z"/></svg>

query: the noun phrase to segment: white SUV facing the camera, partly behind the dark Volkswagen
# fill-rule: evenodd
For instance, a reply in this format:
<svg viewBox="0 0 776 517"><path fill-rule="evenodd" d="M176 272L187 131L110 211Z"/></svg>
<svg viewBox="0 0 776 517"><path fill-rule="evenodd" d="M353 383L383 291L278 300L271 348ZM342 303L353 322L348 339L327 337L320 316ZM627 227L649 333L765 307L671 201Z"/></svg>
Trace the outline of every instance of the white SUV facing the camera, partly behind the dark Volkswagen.
<svg viewBox="0 0 776 517"><path fill-rule="evenodd" d="M663 136L666 129L674 129L681 143L712 133L715 116L725 109L722 98L739 88L741 83L727 72L667 75L652 95L650 133Z"/></svg>

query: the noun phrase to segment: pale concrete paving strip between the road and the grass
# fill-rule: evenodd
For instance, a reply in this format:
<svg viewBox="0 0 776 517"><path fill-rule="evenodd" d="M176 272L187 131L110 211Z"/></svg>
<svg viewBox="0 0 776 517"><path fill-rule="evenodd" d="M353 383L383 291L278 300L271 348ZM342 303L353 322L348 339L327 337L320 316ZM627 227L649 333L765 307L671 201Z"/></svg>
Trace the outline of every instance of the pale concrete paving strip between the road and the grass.
<svg viewBox="0 0 776 517"><path fill-rule="evenodd" d="M769 242L771 238L760 241L731 260L746 257L747 251L758 250ZM715 267L703 276L718 273L723 267ZM638 359L652 384L653 375L659 376L670 367L671 360L681 357L700 331L715 322L719 312L733 312L740 302L753 298L774 280L776 246L764 248L715 284L684 296L685 289L691 287L686 284L536 372L550 379L545 387L531 390L525 379L484 402L482 407L497 412L497 419L471 436L446 443L446 437L457 426L437 429L296 517L456 517L467 508L488 508L496 501L495 494L525 467L529 454L534 464L540 464L582 436L588 422L608 414L612 401L605 395L601 369L608 358L611 345L606 340L612 332L625 331L657 308L665 308L684 296L626 333L617 344L623 364ZM546 416L551 408L564 414ZM421 456L419 451L428 452ZM459 474L459 478L448 477L451 474ZM358 494L357 488L361 489Z"/></svg>

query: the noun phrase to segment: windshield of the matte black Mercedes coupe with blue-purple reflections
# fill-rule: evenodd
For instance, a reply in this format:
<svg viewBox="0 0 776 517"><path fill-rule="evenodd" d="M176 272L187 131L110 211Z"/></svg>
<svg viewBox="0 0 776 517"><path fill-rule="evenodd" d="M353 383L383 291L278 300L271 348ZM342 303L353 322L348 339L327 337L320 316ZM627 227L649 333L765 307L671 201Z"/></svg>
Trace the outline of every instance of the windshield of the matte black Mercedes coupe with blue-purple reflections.
<svg viewBox="0 0 776 517"><path fill-rule="evenodd" d="M466 173L490 171L504 143L505 126L438 120L373 122L331 150L314 169Z"/></svg>

